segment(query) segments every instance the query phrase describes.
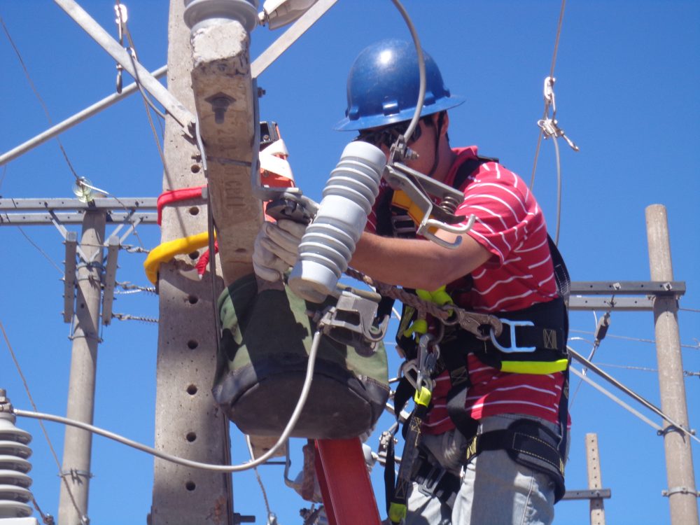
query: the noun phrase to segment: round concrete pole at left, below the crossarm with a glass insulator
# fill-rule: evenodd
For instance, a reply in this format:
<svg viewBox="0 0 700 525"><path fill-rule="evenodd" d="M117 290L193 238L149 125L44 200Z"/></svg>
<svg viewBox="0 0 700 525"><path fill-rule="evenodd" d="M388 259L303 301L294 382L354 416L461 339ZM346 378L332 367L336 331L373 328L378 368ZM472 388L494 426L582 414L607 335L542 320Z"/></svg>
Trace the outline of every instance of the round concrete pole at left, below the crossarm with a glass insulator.
<svg viewBox="0 0 700 525"><path fill-rule="evenodd" d="M83 260L78 265L76 325L73 330L66 416L85 423L92 423L94 414L105 221L106 214L103 210L86 211L83 218L83 237L80 239L80 250L87 261ZM63 480L58 508L59 525L87 523L91 447L92 433L66 426L61 471Z"/></svg>

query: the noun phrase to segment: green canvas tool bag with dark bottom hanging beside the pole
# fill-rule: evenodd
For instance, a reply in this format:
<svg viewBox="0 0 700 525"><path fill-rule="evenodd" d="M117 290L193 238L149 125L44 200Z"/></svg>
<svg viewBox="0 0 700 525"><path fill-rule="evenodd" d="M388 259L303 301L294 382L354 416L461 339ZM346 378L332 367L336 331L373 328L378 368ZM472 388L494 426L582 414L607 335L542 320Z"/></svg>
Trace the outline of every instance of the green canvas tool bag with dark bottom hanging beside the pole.
<svg viewBox="0 0 700 525"><path fill-rule="evenodd" d="M332 300L332 298L331 298ZM258 293L244 276L218 300L223 328L214 399L246 434L279 435L299 399L316 325L307 303L285 290ZM323 336L314 380L292 435L345 439L372 428L389 395L386 351L360 355Z"/></svg>

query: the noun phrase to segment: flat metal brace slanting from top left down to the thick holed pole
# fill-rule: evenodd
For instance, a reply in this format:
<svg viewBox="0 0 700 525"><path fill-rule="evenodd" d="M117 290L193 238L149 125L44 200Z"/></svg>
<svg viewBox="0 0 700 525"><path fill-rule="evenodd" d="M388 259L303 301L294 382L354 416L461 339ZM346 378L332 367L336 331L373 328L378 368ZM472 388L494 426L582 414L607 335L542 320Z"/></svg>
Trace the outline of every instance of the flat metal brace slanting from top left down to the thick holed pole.
<svg viewBox="0 0 700 525"><path fill-rule="evenodd" d="M75 20L94 41L115 59L125 71L137 79L146 91L165 108L165 110L185 129L195 122L195 116L176 99L144 66L131 57L131 55L116 41L101 25L87 14L78 3L73 0L54 0L60 8Z"/></svg>

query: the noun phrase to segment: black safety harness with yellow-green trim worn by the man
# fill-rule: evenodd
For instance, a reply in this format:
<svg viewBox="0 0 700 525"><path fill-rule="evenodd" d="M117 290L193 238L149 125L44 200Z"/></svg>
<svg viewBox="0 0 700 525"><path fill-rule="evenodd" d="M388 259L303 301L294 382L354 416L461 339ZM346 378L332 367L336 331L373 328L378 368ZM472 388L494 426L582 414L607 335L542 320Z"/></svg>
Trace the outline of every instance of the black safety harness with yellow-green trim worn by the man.
<svg viewBox="0 0 700 525"><path fill-rule="evenodd" d="M485 162L498 162L497 159L475 157L464 160L458 167L453 187L462 188L468 177L475 173ZM410 202L405 196L391 192L384 195L384 206L380 204L377 216L377 233L395 237L411 237L415 228L411 218ZM391 204L389 204L391 203ZM534 304L526 309L493 313L503 322L503 331L496 336L490 327L484 326L483 337L462 330L458 325L444 326L440 330L440 346L434 340L430 342L433 349L431 360L431 377L447 370L451 388L447 394L447 412L457 430L468 439L468 447L463 463L466 464L479 453L486 450L505 450L507 454L521 465L545 472L552 477L555 484L554 500L559 501L564 492L564 458L566 454L568 426L568 312L565 299L570 290L570 279L561 253L552 239L549 241L549 251L554 263L559 297L555 300ZM470 289L471 276L458 280L458 288L452 288L451 295ZM416 321L423 321L419 330L412 330ZM447 324L447 323L446 323ZM405 352L410 362L417 359L418 374L424 374L425 358L421 353L428 345L421 342L425 335L415 337L414 332L426 331L426 321L416 319L416 310L404 305L402 319L397 333L397 343ZM487 337L488 336L488 337ZM416 344L416 342L418 344ZM517 419L508 428L477 433L478 421L472 419L465 409L466 395L470 386L468 370L468 354L474 353L479 360L503 372L521 374L551 374L561 372L563 385L559 402L559 435L549 428L531 419ZM426 382L412 379L411 374L405 374L401 379L394 395L394 407L397 419L409 398L415 393L416 409L404 426L406 438L405 452L394 484L394 451L393 436L385 439L386 445L386 498L387 512L394 523L399 523L405 516L405 503L409 480L419 485L419 490L429 496L439 498L442 503L451 507L461 484L461 479L448 472L440 465L434 465L426 454L419 449L420 426L428 412L428 406L419 402L419 391L426 399L425 389L432 387L432 381ZM422 390L421 390L422 389ZM430 392L432 393L432 392ZM428 398L429 402L430 398ZM417 416L417 417L416 417ZM408 450L408 456L406 451Z"/></svg>

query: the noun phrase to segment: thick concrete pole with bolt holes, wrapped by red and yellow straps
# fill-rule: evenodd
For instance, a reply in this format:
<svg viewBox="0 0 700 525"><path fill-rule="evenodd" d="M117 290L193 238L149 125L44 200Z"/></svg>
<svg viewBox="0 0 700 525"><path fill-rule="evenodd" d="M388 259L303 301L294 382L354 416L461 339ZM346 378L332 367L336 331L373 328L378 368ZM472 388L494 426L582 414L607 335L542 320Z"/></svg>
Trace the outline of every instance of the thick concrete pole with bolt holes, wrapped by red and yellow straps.
<svg viewBox="0 0 700 525"><path fill-rule="evenodd" d="M168 89L190 111L190 31L184 3L173 0L169 15ZM163 190L203 186L202 162L185 130L170 116L165 128ZM207 209L178 202L162 213L162 242L207 230ZM209 274L200 281L197 253L160 265L160 323L156 370L155 447L196 461L230 463L228 420L211 398L216 367L214 304ZM217 281L217 295L222 289ZM155 459L152 525L232 522L230 475L186 468Z"/></svg>

